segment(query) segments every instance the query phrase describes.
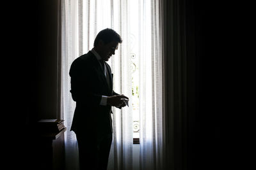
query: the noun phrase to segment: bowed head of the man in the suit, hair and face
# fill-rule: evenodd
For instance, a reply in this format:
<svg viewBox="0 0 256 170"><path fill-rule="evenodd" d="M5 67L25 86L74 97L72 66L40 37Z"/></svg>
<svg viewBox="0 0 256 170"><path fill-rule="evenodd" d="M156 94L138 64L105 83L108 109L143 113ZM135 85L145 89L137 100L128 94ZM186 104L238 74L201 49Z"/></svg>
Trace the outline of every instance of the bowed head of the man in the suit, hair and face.
<svg viewBox="0 0 256 170"><path fill-rule="evenodd" d="M102 60L108 61L111 55L115 55L118 43L122 43L119 34L113 29L103 29L97 34L93 46Z"/></svg>

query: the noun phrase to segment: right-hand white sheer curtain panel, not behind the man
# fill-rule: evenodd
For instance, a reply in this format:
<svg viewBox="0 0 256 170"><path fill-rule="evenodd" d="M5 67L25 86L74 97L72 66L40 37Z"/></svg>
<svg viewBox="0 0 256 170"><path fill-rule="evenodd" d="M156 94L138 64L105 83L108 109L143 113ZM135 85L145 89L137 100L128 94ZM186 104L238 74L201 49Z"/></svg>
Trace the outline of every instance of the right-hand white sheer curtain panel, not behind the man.
<svg viewBox="0 0 256 170"><path fill-rule="evenodd" d="M140 1L140 169L163 169L161 1Z"/></svg>

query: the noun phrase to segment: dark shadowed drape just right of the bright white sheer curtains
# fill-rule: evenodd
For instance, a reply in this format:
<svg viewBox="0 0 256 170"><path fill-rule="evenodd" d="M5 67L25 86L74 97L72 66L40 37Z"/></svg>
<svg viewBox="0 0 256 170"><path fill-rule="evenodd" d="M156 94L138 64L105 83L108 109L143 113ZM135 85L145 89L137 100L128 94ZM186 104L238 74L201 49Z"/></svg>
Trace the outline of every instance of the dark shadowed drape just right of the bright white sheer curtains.
<svg viewBox="0 0 256 170"><path fill-rule="evenodd" d="M187 169L186 1L163 1L164 169Z"/></svg>

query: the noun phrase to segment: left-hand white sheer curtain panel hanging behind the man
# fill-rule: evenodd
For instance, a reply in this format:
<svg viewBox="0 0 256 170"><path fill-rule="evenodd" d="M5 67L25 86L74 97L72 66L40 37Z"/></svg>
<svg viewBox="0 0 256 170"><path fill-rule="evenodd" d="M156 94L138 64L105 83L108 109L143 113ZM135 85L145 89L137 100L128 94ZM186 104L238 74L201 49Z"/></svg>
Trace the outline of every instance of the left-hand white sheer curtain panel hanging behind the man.
<svg viewBox="0 0 256 170"><path fill-rule="evenodd" d="M123 43L108 64L114 74L114 90L132 98L131 57L129 57L129 1L63 0L62 20L62 101L67 127L65 134L66 169L79 169L76 135L70 132L75 103L70 96L68 71L74 59L93 48L99 31L107 27L122 36ZM132 102L132 101L130 101ZM113 143L108 169L132 169L132 107L113 108ZM93 128L93 127L92 127ZM90 130L90 129L89 129ZM90 147L90 146L88 146Z"/></svg>

